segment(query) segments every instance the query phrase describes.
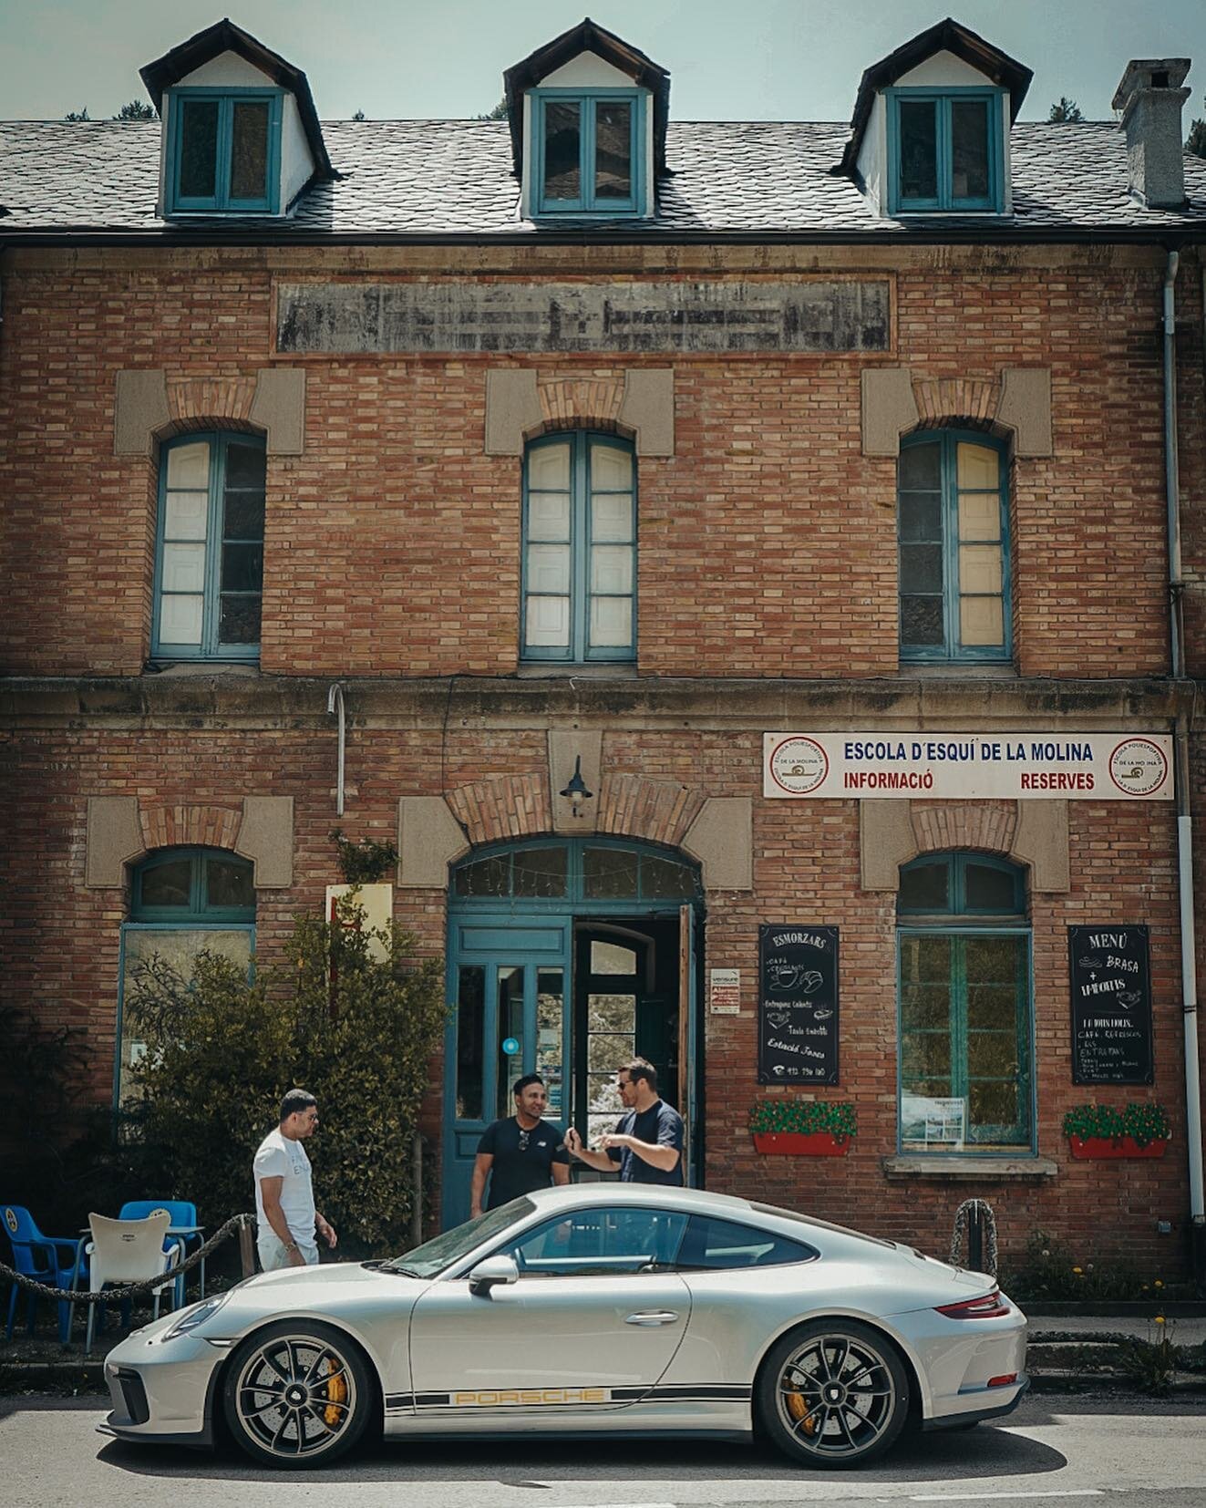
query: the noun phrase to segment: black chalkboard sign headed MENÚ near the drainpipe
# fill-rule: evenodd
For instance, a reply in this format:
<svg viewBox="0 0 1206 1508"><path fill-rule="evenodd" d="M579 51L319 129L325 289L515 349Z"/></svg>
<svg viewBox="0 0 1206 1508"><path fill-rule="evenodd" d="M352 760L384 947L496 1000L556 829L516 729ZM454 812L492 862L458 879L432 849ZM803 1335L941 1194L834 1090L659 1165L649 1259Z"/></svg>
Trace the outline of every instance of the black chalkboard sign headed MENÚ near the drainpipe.
<svg viewBox="0 0 1206 1508"><path fill-rule="evenodd" d="M1152 1083L1147 927L1069 927L1072 1083Z"/></svg>

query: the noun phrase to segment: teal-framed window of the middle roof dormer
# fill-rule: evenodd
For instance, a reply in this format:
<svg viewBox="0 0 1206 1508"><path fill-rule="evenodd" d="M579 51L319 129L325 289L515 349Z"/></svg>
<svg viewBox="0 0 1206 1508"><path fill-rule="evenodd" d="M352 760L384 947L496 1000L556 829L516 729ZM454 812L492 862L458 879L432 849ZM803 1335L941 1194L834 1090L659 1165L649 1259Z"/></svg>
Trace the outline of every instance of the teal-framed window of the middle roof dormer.
<svg viewBox="0 0 1206 1508"><path fill-rule="evenodd" d="M644 98L636 90L534 90L537 214L633 214L642 202Z"/></svg>

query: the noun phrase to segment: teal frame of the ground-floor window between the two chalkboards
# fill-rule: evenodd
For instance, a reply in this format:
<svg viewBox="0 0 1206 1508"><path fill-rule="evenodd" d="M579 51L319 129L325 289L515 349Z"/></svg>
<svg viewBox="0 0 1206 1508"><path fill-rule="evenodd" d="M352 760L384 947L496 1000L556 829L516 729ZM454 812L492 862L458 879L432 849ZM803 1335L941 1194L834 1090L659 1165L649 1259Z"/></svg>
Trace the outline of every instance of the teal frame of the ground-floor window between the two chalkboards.
<svg viewBox="0 0 1206 1508"><path fill-rule="evenodd" d="M923 864L945 861L948 864L948 900L950 908L944 915L924 915L921 911L909 911L897 906L897 1152L909 1157L1034 1157L1037 1155L1037 1095L1036 1095L1036 1024L1034 1024L1034 944L1033 930L1025 917L1025 873L1007 860L995 858L989 854L951 852L926 854L911 864L900 867L901 881L904 875ZM1018 906L1012 912L992 912L986 908L971 906L966 899L966 870L969 864L998 869L1009 873L1015 881L1013 902ZM966 918L966 920L965 920ZM995 920L993 920L995 918ZM903 1108L906 1093L904 1078L904 1048L906 1039L924 1034L926 1031L941 1031L942 1028L906 1027L904 1024L904 949L914 938L938 936L950 941L950 1016L947 1034L950 1039L950 1086L948 1098L963 1098L969 1102L972 1078L986 1081L986 1075L972 1075L968 1054L968 973L966 944L974 938L1016 938L1022 944L1024 964L1015 979L1015 1031L1018 1051L1018 1119L1013 1125L981 1126L983 1143L972 1140L971 1125L962 1151L950 1146L938 1146L933 1152L921 1151L914 1142L906 1143ZM989 1030L978 1027L977 1030ZM1001 1027L1004 1034L1009 1028ZM918 1080L911 1080L917 1083ZM921 1080L924 1081L924 1080ZM944 1098L944 1096L939 1096ZM984 1136L984 1133L995 1133Z"/></svg>

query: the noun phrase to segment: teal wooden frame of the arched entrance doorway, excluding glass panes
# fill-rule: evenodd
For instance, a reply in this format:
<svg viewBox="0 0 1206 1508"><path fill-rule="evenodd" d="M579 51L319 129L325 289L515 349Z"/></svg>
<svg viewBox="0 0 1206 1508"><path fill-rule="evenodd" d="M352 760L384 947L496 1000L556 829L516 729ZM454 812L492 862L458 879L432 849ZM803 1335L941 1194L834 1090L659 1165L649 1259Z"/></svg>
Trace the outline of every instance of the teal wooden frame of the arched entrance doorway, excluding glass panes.
<svg viewBox="0 0 1206 1508"><path fill-rule="evenodd" d="M564 894L559 896L460 896L455 894L455 875L467 866L479 864L482 860L505 860L507 855L523 849L567 847ZM695 875L695 893L687 897L677 896L617 896L608 899L591 899L585 894L583 885L583 851L586 847L609 847L629 851L656 861L672 861ZM508 882L510 884L510 882ZM644 884L644 872L642 881ZM540 1027L538 1012L538 976L541 971L559 970L562 988L561 1009L561 1104L550 1105L549 1119L567 1125L573 1114L573 942L574 923L606 918L656 918L678 920L681 906L690 905L693 911L693 926L689 929L687 959L686 959L686 991L680 989L678 1010L680 1019L686 1013L683 1045L687 1053L687 1104L683 1107L687 1116L687 1136L692 1149L701 1146L701 1137L695 1126L695 1116L699 1108L699 1093L696 1089L696 1056L699 1045L698 1031L698 947L696 932L702 926L704 905L702 891L698 882L698 869L677 851L659 849L654 844L624 841L617 838L555 838L543 837L513 844L491 844L475 849L454 867L454 885L448 900L448 965L446 965L446 998L449 1010L445 1031L445 1072L443 1072L443 1136L442 1136L442 1228L449 1229L461 1220L469 1218L469 1179L472 1176L473 1158L482 1131L502 1113L511 1113L510 1086L502 1084L507 1092L507 1102L499 1111L499 1077L505 1074L511 1083L520 1074L538 1071ZM473 1051L464 1060L458 1056L460 1047L460 1000L461 970L481 970L475 976L479 982L481 997L475 1004L475 1025L478 1041ZM504 974L507 970L523 970L523 1004L520 1051L505 1057L499 1051L502 1038L499 1036L499 1000L504 1007L507 1001L507 986L514 985L514 976ZM514 1003L510 1003L514 1009ZM514 1015L513 1015L514 1021ZM511 1022L502 1022L511 1025ZM514 1034L514 1033L513 1033ZM546 1048L549 1044L546 1044ZM461 1069L472 1077L472 1092L467 1102L458 1104L458 1095L466 1087ZM479 1075L479 1077L478 1077ZM546 1074L546 1077L549 1077ZM479 1096L476 1086L479 1084ZM669 1087L669 1086L668 1086ZM466 1096L461 1096L464 1099ZM687 1161L689 1181L699 1181L698 1154Z"/></svg>

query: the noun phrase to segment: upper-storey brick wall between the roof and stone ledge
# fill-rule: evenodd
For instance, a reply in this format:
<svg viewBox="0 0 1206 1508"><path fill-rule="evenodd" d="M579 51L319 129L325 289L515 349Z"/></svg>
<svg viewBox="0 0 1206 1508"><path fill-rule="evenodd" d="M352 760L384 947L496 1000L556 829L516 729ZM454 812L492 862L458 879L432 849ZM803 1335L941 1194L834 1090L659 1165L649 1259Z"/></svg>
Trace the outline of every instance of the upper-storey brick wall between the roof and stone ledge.
<svg viewBox="0 0 1206 1508"><path fill-rule="evenodd" d="M850 255L843 270L856 270ZM1055 455L1013 469L1018 670L1162 673L1161 259L1067 249L900 261L894 362L935 382L1052 371ZM419 253L401 268L410 262L430 271ZM556 271L525 250L497 250L491 264ZM745 273L745 253L718 253L707 270ZM211 394L246 412L247 383L270 360L271 273L270 253L252 250L11 258L0 348L11 670L140 670L154 466L113 455L116 372L163 368L188 385L190 409ZM306 362L306 452L268 464L265 671L514 670L520 469L484 454L485 371L502 363ZM674 365L675 454L639 467L641 671L894 673L895 469L861 452L865 360ZM598 391L620 377L594 359L538 369L546 383L594 379Z"/></svg>

